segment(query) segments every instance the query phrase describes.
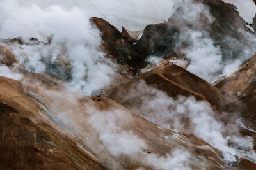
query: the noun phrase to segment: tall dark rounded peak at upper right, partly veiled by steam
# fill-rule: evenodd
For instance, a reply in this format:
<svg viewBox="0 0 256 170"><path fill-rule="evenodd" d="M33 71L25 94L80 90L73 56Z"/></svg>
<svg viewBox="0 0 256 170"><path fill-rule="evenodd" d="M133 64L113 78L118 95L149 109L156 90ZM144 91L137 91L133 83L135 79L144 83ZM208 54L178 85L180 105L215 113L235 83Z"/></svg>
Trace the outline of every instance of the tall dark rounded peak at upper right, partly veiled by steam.
<svg viewBox="0 0 256 170"><path fill-rule="evenodd" d="M239 57L243 53L243 47L246 46L246 38L243 32L248 32L246 22L239 16L234 6L226 4L221 0L195 1L195 4L204 4L201 8L199 18L193 18L193 7L180 6L172 17L168 18L166 24L180 28L181 34L191 29L200 31L205 37L214 40L214 45L220 46L223 60L230 60ZM195 9L195 10L196 10ZM208 12L209 11L209 12ZM186 13L191 13L192 17L183 17ZM225 17L223 17L225 16ZM188 45L189 42L183 43ZM250 44L247 44L248 46Z"/></svg>

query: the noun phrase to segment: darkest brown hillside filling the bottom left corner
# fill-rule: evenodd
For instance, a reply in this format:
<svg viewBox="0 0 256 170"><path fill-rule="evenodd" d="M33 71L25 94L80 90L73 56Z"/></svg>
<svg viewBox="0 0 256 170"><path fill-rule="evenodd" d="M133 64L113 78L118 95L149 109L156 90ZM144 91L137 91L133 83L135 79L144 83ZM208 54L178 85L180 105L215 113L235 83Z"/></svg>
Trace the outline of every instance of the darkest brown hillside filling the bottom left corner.
<svg viewBox="0 0 256 170"><path fill-rule="evenodd" d="M1 104L0 169L106 169L68 136Z"/></svg>

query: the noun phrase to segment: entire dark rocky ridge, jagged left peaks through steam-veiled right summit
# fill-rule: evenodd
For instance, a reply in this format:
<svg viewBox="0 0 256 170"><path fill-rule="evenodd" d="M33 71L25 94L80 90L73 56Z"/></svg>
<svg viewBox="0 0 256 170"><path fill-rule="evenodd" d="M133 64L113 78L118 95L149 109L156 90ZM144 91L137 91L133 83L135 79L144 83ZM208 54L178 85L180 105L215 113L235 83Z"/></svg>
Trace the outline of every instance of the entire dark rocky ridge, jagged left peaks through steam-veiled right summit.
<svg viewBox="0 0 256 170"><path fill-rule="evenodd" d="M119 32L102 18L93 17L91 20L102 32L103 46L107 52L134 68L144 67L147 64L145 59L150 55L167 59L172 53L179 54L180 49L191 45L184 37L189 30L200 31L211 38L214 45L220 46L223 60L239 57L243 53L243 47L250 46L250 43L246 44L243 33L250 31L234 6L221 0L194 1L194 4L199 5L195 10L202 8L199 18L189 18L190 13L193 15L193 9L188 10L189 4L185 4L168 21L145 27L138 42L124 28Z"/></svg>

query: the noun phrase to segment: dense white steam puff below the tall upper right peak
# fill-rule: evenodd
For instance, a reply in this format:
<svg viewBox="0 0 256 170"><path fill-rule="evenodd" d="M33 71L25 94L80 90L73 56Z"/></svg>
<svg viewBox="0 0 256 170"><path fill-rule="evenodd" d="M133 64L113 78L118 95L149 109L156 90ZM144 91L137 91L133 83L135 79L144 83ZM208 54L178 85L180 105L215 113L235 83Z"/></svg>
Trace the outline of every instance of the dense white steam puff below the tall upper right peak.
<svg viewBox="0 0 256 170"><path fill-rule="evenodd" d="M199 31L189 30L184 36L192 43L184 50L190 60L188 71L209 82L216 80L222 69L220 47L214 46L214 41Z"/></svg>

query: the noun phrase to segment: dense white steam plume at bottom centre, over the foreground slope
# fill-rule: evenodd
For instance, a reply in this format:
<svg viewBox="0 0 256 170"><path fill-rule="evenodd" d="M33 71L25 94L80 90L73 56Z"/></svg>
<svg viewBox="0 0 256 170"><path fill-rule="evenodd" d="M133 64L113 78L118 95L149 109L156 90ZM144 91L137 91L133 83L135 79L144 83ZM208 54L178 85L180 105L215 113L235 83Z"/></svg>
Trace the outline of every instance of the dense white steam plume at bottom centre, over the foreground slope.
<svg viewBox="0 0 256 170"><path fill-rule="evenodd" d="M154 169L191 169L191 155L184 148L174 148L172 153L164 156L145 153L148 148L146 141L136 136L132 130L124 130L132 123L132 117L127 111L110 110L100 113L99 110L94 110L92 113L90 122L95 132L99 133L100 141L113 157L125 155L134 162Z"/></svg>

